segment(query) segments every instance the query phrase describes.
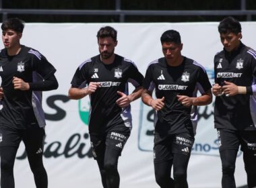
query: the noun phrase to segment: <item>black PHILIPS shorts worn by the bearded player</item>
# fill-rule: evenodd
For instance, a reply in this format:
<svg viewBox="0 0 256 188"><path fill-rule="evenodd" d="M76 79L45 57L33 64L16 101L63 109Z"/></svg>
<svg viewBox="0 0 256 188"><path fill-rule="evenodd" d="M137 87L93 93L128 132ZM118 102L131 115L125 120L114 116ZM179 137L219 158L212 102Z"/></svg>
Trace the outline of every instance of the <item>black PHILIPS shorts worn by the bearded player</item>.
<svg viewBox="0 0 256 188"><path fill-rule="evenodd" d="M90 134L92 154L94 159L96 159L98 156L104 156L106 147L118 150L120 152L119 156L121 156L121 152L129 136L130 134L123 134L120 132L109 132L106 136L96 136Z"/></svg>

